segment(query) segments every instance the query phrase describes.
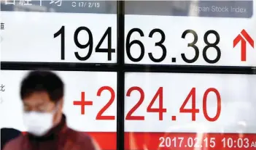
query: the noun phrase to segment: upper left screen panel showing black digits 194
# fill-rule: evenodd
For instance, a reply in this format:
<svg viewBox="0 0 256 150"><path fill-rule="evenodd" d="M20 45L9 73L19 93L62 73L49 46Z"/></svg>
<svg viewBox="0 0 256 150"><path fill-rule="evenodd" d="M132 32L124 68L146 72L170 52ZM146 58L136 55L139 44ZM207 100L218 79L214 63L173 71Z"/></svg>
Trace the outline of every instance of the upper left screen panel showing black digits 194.
<svg viewBox="0 0 256 150"><path fill-rule="evenodd" d="M117 62L115 1L4 2L1 61Z"/></svg>

